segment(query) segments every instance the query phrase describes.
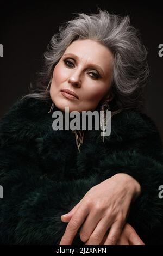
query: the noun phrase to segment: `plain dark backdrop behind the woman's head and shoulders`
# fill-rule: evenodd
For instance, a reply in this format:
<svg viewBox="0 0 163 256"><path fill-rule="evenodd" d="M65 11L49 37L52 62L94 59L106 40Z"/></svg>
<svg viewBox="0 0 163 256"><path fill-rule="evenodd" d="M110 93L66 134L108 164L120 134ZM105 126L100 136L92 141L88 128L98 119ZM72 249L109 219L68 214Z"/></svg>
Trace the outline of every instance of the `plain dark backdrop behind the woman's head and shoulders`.
<svg viewBox="0 0 163 256"><path fill-rule="evenodd" d="M110 13L130 15L131 25L139 29L148 48L151 79L146 87L145 113L159 129L163 140L163 57L159 57L159 44L163 44L163 9L159 2L139 1L1 1L0 43L4 57L0 57L0 118L22 95L35 78L42 62L42 54L58 26L72 19L73 13L92 13L97 6Z"/></svg>

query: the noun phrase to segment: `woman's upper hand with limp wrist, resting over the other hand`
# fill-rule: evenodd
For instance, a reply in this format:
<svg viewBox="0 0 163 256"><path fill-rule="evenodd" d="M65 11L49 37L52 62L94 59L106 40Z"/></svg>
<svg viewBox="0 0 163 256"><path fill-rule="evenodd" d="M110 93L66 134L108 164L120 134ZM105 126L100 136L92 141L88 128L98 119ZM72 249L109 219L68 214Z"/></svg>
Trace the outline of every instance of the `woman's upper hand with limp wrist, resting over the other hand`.
<svg viewBox="0 0 163 256"><path fill-rule="evenodd" d="M130 203L140 194L140 185L131 176L116 174L92 187L67 214L69 222L60 245L71 245L78 229L86 245L99 245L109 230L104 245L115 245L129 213Z"/></svg>

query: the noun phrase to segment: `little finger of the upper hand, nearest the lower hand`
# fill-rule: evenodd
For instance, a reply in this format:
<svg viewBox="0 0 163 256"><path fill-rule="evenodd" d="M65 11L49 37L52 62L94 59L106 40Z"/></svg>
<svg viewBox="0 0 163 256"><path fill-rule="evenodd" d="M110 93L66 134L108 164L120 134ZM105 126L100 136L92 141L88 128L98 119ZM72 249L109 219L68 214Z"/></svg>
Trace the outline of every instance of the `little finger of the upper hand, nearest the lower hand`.
<svg viewBox="0 0 163 256"><path fill-rule="evenodd" d="M121 232L122 232L122 223L120 221L116 221L111 225L109 235L104 243L104 245L116 245Z"/></svg>

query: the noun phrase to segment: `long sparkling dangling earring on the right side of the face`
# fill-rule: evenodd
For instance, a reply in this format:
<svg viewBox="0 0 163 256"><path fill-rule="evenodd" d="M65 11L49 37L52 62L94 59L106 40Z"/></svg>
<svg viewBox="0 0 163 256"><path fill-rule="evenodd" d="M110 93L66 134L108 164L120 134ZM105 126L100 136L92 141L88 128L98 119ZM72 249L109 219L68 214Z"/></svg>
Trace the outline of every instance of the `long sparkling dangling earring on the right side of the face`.
<svg viewBox="0 0 163 256"><path fill-rule="evenodd" d="M104 142L104 131L105 131L105 127L106 127L106 111L109 111L110 107L109 107L109 103L107 101L105 101L104 103L102 103L101 107L100 107L100 127L101 130L103 132L103 142Z"/></svg>

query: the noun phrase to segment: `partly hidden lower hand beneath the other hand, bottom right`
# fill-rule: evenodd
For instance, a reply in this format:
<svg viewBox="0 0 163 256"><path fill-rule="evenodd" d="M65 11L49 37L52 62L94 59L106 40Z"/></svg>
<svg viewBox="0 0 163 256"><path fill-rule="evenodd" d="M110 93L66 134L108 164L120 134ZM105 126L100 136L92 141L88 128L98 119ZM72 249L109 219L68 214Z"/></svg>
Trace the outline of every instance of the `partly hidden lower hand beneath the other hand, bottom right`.
<svg viewBox="0 0 163 256"><path fill-rule="evenodd" d="M135 229L126 223L116 245L145 245L137 235Z"/></svg>

